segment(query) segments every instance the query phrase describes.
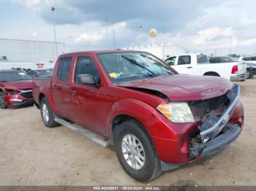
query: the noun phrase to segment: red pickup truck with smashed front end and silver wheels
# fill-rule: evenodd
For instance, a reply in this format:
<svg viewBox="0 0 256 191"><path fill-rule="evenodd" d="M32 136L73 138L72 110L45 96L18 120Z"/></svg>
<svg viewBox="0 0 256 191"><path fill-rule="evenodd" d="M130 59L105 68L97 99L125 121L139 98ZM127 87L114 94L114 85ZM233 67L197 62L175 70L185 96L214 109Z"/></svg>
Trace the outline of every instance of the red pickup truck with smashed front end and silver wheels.
<svg viewBox="0 0 256 191"><path fill-rule="evenodd" d="M179 75L148 52L60 55L51 79L34 79L33 94L48 128L64 125L104 147L113 141L140 182L214 155L244 125L238 85Z"/></svg>

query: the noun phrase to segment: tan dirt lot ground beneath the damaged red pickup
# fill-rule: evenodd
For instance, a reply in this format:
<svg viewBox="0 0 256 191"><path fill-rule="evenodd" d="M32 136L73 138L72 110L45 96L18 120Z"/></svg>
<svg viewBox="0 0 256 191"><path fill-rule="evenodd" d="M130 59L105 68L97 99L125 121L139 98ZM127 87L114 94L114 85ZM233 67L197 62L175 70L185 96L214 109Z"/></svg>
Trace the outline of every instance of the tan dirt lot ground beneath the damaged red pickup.
<svg viewBox="0 0 256 191"><path fill-rule="evenodd" d="M225 151L170 171L149 185L256 185L256 78L239 82L246 126ZM115 152L67 128L45 128L33 106L0 111L0 185L146 185Z"/></svg>

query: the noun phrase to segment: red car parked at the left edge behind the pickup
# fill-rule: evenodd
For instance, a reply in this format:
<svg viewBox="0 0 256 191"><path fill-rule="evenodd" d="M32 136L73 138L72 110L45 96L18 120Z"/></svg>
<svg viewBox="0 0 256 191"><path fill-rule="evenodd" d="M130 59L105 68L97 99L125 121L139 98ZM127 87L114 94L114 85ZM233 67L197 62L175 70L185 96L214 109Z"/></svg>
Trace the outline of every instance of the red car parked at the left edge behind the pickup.
<svg viewBox="0 0 256 191"><path fill-rule="evenodd" d="M33 103L31 77L23 71L0 70L0 108Z"/></svg>

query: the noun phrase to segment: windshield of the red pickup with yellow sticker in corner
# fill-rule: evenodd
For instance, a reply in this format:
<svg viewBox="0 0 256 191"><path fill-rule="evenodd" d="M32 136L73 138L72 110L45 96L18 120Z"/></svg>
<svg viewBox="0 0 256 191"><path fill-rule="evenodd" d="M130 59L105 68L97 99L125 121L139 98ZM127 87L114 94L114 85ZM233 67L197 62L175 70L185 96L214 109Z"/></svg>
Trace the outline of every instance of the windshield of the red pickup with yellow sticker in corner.
<svg viewBox="0 0 256 191"><path fill-rule="evenodd" d="M146 52L100 53L98 57L113 83L176 74Z"/></svg>

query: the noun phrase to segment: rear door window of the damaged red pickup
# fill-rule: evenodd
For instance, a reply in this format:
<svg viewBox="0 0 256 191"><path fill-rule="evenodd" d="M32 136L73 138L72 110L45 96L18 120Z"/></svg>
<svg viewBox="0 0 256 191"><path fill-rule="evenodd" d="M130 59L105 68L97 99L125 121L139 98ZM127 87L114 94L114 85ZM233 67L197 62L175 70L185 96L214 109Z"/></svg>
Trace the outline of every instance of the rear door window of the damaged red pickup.
<svg viewBox="0 0 256 191"><path fill-rule="evenodd" d="M57 77L61 82L67 82L69 78L69 70L71 66L72 58L61 58L59 63L59 69Z"/></svg>

